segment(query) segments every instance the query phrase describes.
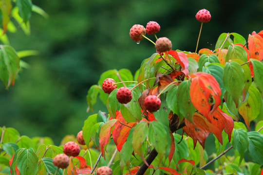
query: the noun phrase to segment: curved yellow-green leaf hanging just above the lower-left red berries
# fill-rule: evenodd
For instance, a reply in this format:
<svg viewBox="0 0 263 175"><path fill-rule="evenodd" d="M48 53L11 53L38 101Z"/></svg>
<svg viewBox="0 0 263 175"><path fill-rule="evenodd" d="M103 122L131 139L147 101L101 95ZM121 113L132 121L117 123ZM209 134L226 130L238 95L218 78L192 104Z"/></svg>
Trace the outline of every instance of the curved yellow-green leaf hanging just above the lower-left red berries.
<svg viewBox="0 0 263 175"><path fill-rule="evenodd" d="M90 144L91 129L95 123L97 123L97 114L89 116L88 119L84 122L84 125L82 127L82 135L86 145Z"/></svg>

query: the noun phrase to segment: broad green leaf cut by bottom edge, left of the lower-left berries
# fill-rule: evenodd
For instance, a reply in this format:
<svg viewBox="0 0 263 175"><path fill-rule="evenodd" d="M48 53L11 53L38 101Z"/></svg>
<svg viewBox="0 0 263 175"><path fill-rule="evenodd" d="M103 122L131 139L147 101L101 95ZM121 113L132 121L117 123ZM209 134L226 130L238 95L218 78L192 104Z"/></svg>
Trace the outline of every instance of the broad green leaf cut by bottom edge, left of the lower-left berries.
<svg viewBox="0 0 263 175"><path fill-rule="evenodd" d="M17 165L21 175L36 175L38 172L38 156L33 148L23 149L20 152Z"/></svg>

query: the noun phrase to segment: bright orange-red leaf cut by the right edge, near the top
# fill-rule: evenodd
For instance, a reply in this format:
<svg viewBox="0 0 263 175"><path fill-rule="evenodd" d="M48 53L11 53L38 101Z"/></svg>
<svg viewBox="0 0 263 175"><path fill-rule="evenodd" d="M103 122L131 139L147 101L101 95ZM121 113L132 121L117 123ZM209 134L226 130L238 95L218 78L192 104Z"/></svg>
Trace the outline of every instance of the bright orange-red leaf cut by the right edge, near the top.
<svg viewBox="0 0 263 175"><path fill-rule="evenodd" d="M250 58L263 60L263 37L261 34L248 35L248 50Z"/></svg>

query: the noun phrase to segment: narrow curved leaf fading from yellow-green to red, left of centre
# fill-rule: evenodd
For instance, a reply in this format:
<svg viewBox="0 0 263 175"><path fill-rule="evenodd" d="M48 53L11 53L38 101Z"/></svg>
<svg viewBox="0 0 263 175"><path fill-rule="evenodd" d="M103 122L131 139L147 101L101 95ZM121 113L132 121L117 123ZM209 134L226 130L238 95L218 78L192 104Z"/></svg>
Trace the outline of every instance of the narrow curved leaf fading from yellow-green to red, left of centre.
<svg viewBox="0 0 263 175"><path fill-rule="evenodd" d="M110 120L104 123L101 126L100 133L99 133L99 144L101 149L102 157L105 156L106 146L111 141L111 131L113 130L114 124L117 122L117 119ZM105 159L105 157L104 157Z"/></svg>

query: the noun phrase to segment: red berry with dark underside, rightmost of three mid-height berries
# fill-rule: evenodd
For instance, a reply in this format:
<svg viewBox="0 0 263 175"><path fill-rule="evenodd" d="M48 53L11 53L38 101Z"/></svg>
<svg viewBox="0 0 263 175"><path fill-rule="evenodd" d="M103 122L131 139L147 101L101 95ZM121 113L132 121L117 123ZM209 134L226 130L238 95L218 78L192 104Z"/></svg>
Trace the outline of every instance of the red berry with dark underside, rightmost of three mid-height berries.
<svg viewBox="0 0 263 175"><path fill-rule="evenodd" d="M161 100L155 95L149 95L144 99L144 106L150 112L155 112L160 109Z"/></svg>

